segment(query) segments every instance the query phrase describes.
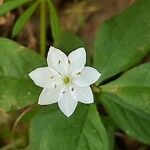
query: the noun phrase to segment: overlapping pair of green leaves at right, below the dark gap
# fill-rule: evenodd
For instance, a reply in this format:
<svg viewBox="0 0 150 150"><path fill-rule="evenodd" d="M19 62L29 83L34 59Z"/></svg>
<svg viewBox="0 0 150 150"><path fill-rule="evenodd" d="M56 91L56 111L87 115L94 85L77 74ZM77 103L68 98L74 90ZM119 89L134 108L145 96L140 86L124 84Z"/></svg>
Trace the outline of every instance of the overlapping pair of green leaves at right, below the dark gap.
<svg viewBox="0 0 150 150"><path fill-rule="evenodd" d="M150 144L150 63L135 67L102 86L101 100L115 123L130 136Z"/></svg>

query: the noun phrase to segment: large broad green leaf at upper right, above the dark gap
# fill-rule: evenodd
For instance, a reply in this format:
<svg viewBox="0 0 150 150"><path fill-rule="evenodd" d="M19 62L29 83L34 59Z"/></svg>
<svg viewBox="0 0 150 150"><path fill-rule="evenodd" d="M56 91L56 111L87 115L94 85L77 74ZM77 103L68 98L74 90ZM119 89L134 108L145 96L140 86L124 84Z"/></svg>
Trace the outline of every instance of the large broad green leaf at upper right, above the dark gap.
<svg viewBox="0 0 150 150"><path fill-rule="evenodd" d="M138 64L150 52L149 11L149 0L137 0L101 26L94 57L100 82Z"/></svg>

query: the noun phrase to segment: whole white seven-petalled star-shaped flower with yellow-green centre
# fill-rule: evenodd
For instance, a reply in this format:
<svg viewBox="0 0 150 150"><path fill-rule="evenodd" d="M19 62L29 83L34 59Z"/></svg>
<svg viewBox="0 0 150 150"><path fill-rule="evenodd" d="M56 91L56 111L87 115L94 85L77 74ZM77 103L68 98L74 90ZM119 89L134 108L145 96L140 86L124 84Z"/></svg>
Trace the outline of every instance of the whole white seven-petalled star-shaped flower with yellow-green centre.
<svg viewBox="0 0 150 150"><path fill-rule="evenodd" d="M76 49L67 57L61 50L50 47L47 63L48 67L37 68L29 74L36 85L44 88L38 104L58 102L60 110L69 117L78 101L85 104L94 102L89 85L101 74L92 67L85 67L84 48Z"/></svg>

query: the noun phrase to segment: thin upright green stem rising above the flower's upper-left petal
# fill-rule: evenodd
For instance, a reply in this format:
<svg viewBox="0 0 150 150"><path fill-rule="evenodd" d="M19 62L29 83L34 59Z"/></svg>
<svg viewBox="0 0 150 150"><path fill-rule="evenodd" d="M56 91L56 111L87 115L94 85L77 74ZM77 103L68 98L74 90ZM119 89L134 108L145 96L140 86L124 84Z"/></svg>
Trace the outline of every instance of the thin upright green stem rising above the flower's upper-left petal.
<svg viewBox="0 0 150 150"><path fill-rule="evenodd" d="M46 54L46 2L41 0L40 7L40 54L45 57Z"/></svg>

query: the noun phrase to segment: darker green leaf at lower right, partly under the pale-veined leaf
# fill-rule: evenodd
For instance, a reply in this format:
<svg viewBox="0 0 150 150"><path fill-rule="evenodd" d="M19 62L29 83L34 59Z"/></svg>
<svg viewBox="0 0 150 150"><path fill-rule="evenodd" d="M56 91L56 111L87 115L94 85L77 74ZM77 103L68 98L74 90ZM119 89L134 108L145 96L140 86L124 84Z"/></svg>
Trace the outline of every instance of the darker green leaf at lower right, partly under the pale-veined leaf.
<svg viewBox="0 0 150 150"><path fill-rule="evenodd" d="M102 94L101 101L118 127L132 138L150 144L150 120L116 103L112 100L112 95Z"/></svg>

